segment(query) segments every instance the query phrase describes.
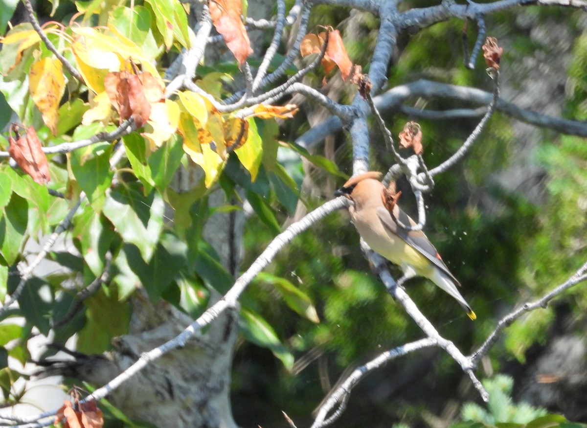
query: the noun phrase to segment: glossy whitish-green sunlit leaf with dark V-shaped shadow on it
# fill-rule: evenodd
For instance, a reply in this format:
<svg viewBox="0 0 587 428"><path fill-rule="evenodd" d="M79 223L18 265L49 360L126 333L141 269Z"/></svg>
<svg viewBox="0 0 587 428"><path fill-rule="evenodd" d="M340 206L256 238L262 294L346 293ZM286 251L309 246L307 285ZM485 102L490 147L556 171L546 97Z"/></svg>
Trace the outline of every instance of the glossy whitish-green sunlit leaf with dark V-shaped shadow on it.
<svg viewBox="0 0 587 428"><path fill-rule="evenodd" d="M149 262L163 230L163 198L153 191L143 196L139 183L112 190L104 200L104 215L112 222L124 242L139 248L141 257Z"/></svg>

